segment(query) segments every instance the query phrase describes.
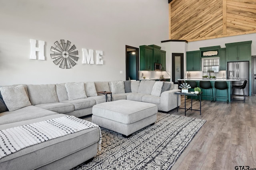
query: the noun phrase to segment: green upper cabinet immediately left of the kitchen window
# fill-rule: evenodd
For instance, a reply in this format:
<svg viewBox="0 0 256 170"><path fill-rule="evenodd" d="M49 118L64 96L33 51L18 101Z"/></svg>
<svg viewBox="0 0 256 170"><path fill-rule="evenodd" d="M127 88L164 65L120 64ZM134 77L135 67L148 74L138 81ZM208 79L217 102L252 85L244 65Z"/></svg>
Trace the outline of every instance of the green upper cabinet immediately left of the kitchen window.
<svg viewBox="0 0 256 170"><path fill-rule="evenodd" d="M201 51L187 51L187 71L201 71Z"/></svg>

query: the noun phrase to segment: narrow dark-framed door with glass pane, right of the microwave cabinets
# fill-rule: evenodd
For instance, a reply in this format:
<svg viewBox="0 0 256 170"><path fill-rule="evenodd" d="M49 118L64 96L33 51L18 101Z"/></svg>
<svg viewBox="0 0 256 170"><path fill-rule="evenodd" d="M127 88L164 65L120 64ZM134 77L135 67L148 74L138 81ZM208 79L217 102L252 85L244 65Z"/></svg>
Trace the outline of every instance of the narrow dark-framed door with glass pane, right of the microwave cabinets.
<svg viewBox="0 0 256 170"><path fill-rule="evenodd" d="M172 53L172 82L178 84L178 79L184 78L184 53Z"/></svg>

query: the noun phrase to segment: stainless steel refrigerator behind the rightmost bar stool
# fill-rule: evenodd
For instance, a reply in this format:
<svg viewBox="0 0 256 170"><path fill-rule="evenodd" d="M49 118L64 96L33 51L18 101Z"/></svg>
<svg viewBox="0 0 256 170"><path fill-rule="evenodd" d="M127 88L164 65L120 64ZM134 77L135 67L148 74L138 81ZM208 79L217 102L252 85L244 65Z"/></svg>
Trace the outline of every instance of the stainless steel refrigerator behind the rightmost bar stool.
<svg viewBox="0 0 256 170"><path fill-rule="evenodd" d="M249 96L249 61L228 62L227 78L237 80L232 82L232 85L242 85L244 80L247 80L244 92ZM235 89L234 94L243 95L243 90Z"/></svg>

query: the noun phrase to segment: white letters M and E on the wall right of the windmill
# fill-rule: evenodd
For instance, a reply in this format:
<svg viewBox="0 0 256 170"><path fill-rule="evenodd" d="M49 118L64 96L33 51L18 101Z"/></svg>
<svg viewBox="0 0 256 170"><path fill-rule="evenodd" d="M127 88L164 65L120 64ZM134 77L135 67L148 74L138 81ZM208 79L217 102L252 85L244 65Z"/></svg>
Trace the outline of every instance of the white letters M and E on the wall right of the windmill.
<svg viewBox="0 0 256 170"><path fill-rule="evenodd" d="M94 64L93 53L94 50L89 49L89 53L87 49L82 49L83 52L83 64ZM102 60L103 51L96 50L96 64L103 64Z"/></svg>

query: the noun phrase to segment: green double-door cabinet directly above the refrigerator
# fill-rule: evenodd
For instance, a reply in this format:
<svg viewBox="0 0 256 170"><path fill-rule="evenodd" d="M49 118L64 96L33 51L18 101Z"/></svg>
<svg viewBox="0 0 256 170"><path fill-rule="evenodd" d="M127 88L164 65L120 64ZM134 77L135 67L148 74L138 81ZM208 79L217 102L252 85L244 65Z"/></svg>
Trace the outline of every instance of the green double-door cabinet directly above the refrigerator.
<svg viewBox="0 0 256 170"><path fill-rule="evenodd" d="M252 41L227 43L226 61L249 61L251 58Z"/></svg>

